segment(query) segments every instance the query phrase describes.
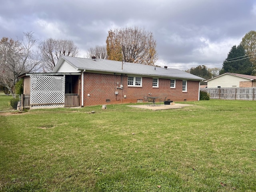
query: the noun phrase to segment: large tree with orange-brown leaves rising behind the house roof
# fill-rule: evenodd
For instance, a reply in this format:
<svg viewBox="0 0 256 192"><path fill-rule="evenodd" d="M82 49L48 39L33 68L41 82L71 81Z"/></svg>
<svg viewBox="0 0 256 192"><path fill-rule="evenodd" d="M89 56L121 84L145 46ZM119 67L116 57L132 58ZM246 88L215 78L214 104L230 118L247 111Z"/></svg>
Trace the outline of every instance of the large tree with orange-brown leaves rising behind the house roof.
<svg viewBox="0 0 256 192"><path fill-rule="evenodd" d="M156 40L144 28L121 28L108 32L107 54L111 60L124 60L154 65L157 60ZM120 56L122 54L122 59Z"/></svg>

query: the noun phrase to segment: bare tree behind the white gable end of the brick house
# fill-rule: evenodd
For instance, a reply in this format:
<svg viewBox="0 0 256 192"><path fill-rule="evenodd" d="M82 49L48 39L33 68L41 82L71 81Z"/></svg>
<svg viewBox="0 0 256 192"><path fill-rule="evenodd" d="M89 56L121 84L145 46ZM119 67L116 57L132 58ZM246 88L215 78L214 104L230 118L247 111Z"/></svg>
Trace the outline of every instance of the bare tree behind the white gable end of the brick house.
<svg viewBox="0 0 256 192"><path fill-rule="evenodd" d="M39 48L44 72L52 71L62 55L72 57L78 55L78 47L72 40L48 38L40 43Z"/></svg>

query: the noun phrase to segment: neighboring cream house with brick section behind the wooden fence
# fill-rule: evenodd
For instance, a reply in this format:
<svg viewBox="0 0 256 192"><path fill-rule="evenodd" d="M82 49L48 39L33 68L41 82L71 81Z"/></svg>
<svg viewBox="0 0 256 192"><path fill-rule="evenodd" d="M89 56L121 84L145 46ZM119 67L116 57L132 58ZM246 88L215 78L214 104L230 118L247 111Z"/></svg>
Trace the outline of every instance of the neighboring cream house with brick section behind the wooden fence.
<svg viewBox="0 0 256 192"><path fill-rule="evenodd" d="M207 88L256 87L256 76L225 73L205 82Z"/></svg>

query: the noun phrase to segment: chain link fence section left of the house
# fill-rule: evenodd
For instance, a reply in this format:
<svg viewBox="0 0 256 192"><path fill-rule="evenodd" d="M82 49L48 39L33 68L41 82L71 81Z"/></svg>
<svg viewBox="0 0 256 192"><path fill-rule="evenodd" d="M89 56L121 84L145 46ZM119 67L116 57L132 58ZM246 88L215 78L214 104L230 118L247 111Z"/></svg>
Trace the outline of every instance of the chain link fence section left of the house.
<svg viewBox="0 0 256 192"><path fill-rule="evenodd" d="M0 112L20 111L20 95L0 94Z"/></svg>

